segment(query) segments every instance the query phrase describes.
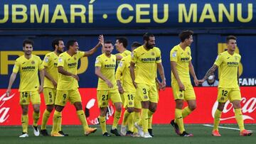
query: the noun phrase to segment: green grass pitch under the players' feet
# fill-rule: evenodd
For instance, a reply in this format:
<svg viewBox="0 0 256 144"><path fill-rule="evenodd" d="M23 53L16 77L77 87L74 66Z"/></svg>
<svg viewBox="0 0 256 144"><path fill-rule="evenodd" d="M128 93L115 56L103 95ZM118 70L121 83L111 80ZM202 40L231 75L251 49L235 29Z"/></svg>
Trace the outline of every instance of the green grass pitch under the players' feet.
<svg viewBox="0 0 256 144"><path fill-rule="evenodd" d="M227 128L238 128L237 125L221 125ZM227 143L240 143L240 144L251 144L256 143L256 136L253 133L250 137L242 137L239 136L238 130L233 129L225 129L220 128L221 137L213 137L210 135L212 128L203 125L186 125L186 131L193 133L193 137L184 138L176 135L174 130L169 125L155 125L153 126L154 130L154 138L146 139L146 138L132 138L132 137L116 137L112 135L112 137L103 137L101 133L100 126L97 126L98 131L89 136L84 136L82 133L81 126L63 126L63 131L68 133L68 137L36 137L33 135L33 130L31 127L28 128L28 138L18 138L18 135L21 134L21 126L0 126L0 143L101 143L101 144L112 144L112 143L206 143L206 144L227 144ZM245 125L245 128L248 130L254 131L256 130L256 125ZM107 127L108 131L110 131L110 126ZM50 126L48 126L48 131L50 131Z"/></svg>

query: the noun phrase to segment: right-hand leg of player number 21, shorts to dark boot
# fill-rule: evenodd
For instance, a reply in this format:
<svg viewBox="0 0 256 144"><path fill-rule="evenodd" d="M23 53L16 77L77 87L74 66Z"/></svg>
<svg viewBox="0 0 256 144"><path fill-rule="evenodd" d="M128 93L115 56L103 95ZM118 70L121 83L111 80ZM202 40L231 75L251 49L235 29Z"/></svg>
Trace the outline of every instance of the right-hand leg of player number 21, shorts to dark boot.
<svg viewBox="0 0 256 144"><path fill-rule="evenodd" d="M121 136L118 131L117 131L117 125L119 122L119 119L121 117L121 112L122 112L122 100L120 97L120 94L117 89L115 90L110 90L110 98L114 104L115 111L114 111L114 120L111 128L111 133L113 133L116 136Z"/></svg>

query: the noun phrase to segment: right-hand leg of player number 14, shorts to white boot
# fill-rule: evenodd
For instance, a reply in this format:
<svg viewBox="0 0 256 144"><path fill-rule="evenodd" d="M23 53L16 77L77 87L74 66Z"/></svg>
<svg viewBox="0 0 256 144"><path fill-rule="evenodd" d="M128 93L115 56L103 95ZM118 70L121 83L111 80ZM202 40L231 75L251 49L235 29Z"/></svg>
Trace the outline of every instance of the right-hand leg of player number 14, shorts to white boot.
<svg viewBox="0 0 256 144"><path fill-rule="evenodd" d="M33 133L36 136L39 136L38 130L38 120L40 117L40 104L41 104L41 97L37 91L30 92L31 103L33 105Z"/></svg>

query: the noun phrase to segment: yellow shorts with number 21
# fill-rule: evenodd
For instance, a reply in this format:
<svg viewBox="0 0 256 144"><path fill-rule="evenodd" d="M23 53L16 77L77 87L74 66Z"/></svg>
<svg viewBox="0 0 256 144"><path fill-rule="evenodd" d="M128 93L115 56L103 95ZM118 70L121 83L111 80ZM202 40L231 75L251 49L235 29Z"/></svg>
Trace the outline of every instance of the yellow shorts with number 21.
<svg viewBox="0 0 256 144"><path fill-rule="evenodd" d="M97 102L100 108L107 107L108 101L110 99L112 103L117 103L117 102L122 103L118 89L97 90Z"/></svg>

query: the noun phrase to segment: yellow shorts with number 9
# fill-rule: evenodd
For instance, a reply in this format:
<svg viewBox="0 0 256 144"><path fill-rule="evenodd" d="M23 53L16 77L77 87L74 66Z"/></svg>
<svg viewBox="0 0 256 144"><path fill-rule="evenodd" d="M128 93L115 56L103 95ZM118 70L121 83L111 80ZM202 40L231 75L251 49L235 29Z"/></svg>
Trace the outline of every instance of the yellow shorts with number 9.
<svg viewBox="0 0 256 144"><path fill-rule="evenodd" d="M65 106L67 101L70 101L71 104L74 104L75 102L82 102L78 89L71 89L68 91L57 90L55 105Z"/></svg>

